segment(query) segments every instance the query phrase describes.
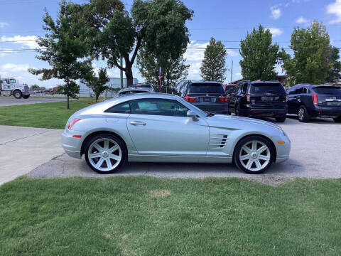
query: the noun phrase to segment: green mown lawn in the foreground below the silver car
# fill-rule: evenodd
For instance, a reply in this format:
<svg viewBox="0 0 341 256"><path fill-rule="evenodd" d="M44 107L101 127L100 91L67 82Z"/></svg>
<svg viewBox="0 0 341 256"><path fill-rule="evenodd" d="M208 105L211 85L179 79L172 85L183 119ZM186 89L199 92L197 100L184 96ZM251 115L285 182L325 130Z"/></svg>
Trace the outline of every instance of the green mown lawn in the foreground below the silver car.
<svg viewBox="0 0 341 256"><path fill-rule="evenodd" d="M340 255L340 191L341 179L18 178L0 187L0 255Z"/></svg>

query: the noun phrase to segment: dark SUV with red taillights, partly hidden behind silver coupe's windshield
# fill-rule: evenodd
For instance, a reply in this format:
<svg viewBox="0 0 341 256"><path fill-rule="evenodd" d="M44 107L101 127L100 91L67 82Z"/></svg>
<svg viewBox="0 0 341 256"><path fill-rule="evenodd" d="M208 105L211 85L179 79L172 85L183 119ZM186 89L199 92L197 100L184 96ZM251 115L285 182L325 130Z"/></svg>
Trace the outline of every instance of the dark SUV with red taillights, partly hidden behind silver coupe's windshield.
<svg viewBox="0 0 341 256"><path fill-rule="evenodd" d="M205 112L227 114L227 95L220 82L185 81L178 84L175 94Z"/></svg>

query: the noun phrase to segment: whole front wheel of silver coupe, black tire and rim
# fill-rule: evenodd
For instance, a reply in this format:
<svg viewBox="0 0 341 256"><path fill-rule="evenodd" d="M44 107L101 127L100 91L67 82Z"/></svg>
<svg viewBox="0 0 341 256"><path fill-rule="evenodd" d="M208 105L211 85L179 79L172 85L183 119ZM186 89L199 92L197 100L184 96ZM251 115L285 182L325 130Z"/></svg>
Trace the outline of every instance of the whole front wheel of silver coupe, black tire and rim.
<svg viewBox="0 0 341 256"><path fill-rule="evenodd" d="M238 169L247 174L261 174L274 161L274 147L263 137L246 137L235 147L233 159Z"/></svg>

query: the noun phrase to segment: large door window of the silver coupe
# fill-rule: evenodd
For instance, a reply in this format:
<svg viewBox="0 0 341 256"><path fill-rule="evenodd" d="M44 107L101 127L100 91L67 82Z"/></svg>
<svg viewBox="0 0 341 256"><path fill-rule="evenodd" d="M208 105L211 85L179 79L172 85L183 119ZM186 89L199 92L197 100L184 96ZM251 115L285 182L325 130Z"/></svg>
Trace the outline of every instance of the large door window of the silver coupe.
<svg viewBox="0 0 341 256"><path fill-rule="evenodd" d="M188 108L175 100L144 99L130 102L131 114L187 117Z"/></svg>

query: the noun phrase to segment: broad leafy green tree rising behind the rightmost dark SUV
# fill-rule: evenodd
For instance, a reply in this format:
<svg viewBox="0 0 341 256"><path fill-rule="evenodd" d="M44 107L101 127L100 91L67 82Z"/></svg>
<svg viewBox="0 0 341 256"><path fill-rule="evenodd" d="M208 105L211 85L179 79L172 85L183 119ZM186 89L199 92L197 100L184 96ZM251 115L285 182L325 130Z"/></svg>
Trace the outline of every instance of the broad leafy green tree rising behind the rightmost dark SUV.
<svg viewBox="0 0 341 256"><path fill-rule="evenodd" d="M300 82L322 83L328 78L334 63L330 61L330 38L323 23L313 21L308 28L294 28L290 48L293 57L282 49L280 58L291 86Z"/></svg>

